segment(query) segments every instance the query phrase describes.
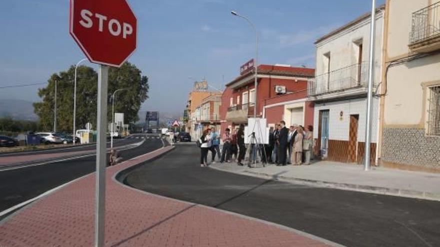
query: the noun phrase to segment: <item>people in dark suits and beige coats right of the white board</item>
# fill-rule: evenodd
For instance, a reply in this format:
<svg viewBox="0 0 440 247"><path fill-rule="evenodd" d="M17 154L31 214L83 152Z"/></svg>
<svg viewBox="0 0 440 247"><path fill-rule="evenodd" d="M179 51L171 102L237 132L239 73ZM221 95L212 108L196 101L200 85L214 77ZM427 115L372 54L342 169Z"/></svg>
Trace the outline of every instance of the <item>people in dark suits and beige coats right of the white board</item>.
<svg viewBox="0 0 440 247"><path fill-rule="evenodd" d="M292 125L289 128L281 121L270 129L268 153L270 163L277 166L286 164L309 165L313 147L313 126Z"/></svg>

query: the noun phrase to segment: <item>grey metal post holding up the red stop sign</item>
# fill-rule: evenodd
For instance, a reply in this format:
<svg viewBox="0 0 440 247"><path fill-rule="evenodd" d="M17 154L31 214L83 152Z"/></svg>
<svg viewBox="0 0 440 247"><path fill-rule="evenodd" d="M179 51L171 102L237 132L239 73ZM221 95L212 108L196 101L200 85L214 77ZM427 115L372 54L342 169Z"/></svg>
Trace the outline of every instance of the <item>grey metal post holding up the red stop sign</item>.
<svg viewBox="0 0 440 247"><path fill-rule="evenodd" d="M108 66L99 65L95 184L95 247L104 246Z"/></svg>

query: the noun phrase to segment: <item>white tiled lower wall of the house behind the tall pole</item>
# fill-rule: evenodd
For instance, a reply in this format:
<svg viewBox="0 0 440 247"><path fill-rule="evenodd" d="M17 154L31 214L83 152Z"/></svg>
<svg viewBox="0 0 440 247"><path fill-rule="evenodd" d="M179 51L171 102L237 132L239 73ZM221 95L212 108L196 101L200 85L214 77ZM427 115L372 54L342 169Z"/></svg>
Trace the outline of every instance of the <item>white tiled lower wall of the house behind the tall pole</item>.
<svg viewBox="0 0 440 247"><path fill-rule="evenodd" d="M315 104L313 116L313 138L318 138L318 121L320 110L329 110L330 119L328 129L330 140L348 141L350 115L359 114L357 141L365 141L366 98ZM340 118L339 115L340 111L343 111L342 118ZM378 100L373 98L371 142L377 142L377 113Z"/></svg>

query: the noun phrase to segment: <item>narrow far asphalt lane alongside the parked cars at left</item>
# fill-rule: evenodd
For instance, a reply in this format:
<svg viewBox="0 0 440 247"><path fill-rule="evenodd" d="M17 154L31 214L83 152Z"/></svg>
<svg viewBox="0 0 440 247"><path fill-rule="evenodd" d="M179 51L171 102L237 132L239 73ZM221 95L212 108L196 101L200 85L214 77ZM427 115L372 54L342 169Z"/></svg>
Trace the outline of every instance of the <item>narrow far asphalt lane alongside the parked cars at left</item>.
<svg viewBox="0 0 440 247"><path fill-rule="evenodd" d="M139 139L136 138L123 138L123 139L113 139L113 146L124 146L132 143L139 142ZM107 148L110 147L110 142L107 142ZM12 156L26 156L26 155L35 155L35 154L53 154L53 153L65 153L65 152L78 152L78 151L87 151L87 150L95 150L96 144L90 145L76 145L76 146L67 146L67 147L59 147L59 148L49 148L49 149L36 149L36 150L26 150L19 152L4 152L0 153L0 157L12 157Z"/></svg>

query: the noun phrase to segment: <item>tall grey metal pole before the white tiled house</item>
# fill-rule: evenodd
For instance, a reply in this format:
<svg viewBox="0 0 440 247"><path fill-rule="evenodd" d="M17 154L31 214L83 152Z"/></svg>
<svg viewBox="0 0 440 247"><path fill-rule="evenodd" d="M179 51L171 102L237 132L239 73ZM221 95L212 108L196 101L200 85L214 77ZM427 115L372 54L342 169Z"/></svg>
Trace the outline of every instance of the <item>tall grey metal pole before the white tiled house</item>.
<svg viewBox="0 0 440 247"><path fill-rule="evenodd" d="M369 38L369 64L368 64L368 92L366 97L366 127L365 127L365 157L364 157L364 171L370 169L370 153L371 153L371 105L372 105L372 89L374 82L374 41L375 41L375 13L376 0L372 0L371 8L371 29Z"/></svg>

